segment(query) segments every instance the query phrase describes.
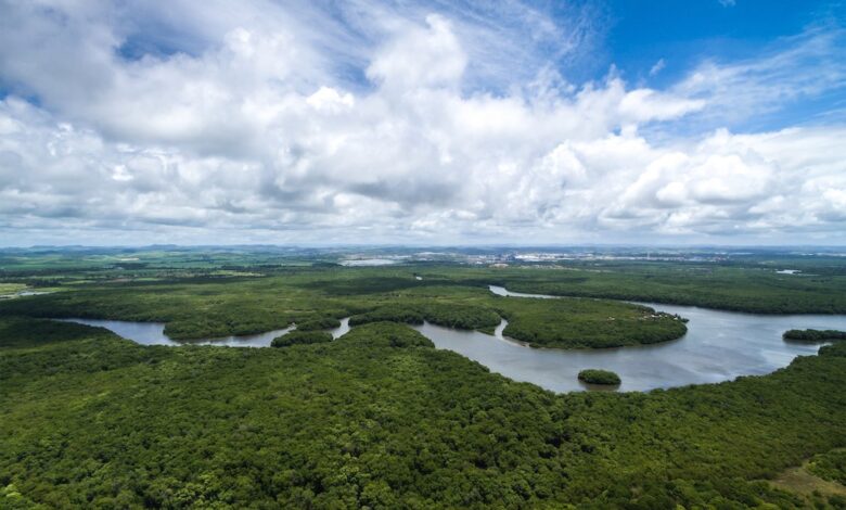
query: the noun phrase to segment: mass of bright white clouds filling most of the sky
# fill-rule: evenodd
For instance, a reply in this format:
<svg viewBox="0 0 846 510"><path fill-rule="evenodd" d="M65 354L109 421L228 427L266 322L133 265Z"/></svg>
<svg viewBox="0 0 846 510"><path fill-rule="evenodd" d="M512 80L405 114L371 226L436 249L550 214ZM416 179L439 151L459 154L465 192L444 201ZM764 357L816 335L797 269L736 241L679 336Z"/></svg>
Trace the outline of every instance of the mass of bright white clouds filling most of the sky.
<svg viewBox="0 0 846 510"><path fill-rule="evenodd" d="M706 64L668 91L613 69L575 87L539 62L531 79L518 65L514 87L491 91L467 84L505 75L485 56L512 31L458 7L449 17L368 3L369 14L345 13L350 34L308 5L294 20L277 4L176 2L203 22L181 41L192 51L126 59L132 27L115 22L126 13L92 5L0 13L0 78L15 92L0 101L4 244L846 231L845 126L640 135L835 87L836 65L828 85L779 68L808 55L828 65L815 42L824 35L760 62ZM134 7L140 18L166 24L148 5ZM560 31L515 12L540 38ZM350 62L367 81L344 78Z"/></svg>

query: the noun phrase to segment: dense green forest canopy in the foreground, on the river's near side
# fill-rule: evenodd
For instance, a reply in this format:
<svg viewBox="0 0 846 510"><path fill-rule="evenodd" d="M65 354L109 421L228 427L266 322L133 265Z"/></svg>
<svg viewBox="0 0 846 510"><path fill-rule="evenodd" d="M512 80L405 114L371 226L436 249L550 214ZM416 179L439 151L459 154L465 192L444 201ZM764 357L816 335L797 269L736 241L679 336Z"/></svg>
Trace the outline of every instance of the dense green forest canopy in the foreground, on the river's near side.
<svg viewBox="0 0 846 510"><path fill-rule="evenodd" d="M554 395L397 323L238 349L0 318L0 506L796 508L761 479L846 442L844 384L824 355Z"/></svg>

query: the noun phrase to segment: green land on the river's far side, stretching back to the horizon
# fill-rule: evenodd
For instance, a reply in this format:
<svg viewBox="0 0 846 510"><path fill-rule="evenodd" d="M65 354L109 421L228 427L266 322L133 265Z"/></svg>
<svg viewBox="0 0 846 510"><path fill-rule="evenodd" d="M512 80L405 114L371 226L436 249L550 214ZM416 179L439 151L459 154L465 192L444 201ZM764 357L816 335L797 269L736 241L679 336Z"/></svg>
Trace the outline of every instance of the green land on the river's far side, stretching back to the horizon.
<svg viewBox="0 0 846 510"><path fill-rule="evenodd" d="M359 316L354 323L428 320L489 332L498 317L504 317L510 336L536 346L571 348L662 342L679 337L684 328L662 315L640 320L645 309L633 305L594 299L516 303L528 299L497 298L487 285L745 311L846 311L846 270L835 265L842 259L833 258L344 268L316 254L306 262L308 252L171 250L0 253L3 284L50 284L59 291L5 299L0 315L162 321L176 340L259 333L292 322L299 330L321 330L346 316ZM813 276L773 271L787 262Z"/></svg>

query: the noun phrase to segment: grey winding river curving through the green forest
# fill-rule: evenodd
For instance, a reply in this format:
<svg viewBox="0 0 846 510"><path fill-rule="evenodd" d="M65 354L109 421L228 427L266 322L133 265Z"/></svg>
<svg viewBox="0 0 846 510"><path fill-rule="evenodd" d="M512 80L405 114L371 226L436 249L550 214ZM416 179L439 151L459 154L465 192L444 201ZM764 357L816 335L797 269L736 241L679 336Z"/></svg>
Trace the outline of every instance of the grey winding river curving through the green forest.
<svg viewBox="0 0 846 510"><path fill-rule="evenodd" d="M490 286L504 298L556 298L509 292ZM739 375L759 375L786 367L796 356L817 353L819 345L784 342L789 329L846 330L843 315L758 315L720 311L694 306L642 303L659 311L690 319L688 333L679 340L655 345L611 349L537 349L502 335L504 320L493 335L459 331L431 323L414 327L438 348L453 350L491 371L515 381L535 383L553 392L589 388L576 375L586 368L613 370L623 379L619 391L729 381ZM144 345L179 345L164 334L164 324L116 320L67 319L107 328ZM349 331L349 319L332 331L334 337ZM260 347L292 328L247 336L204 339L192 344Z"/></svg>

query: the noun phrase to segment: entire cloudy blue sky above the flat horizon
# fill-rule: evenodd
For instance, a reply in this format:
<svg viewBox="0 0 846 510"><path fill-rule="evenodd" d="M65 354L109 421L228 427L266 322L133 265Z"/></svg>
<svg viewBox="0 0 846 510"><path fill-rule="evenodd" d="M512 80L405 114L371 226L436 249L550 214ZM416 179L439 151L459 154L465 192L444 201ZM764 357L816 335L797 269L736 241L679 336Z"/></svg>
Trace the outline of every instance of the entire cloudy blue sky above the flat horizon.
<svg viewBox="0 0 846 510"><path fill-rule="evenodd" d="M0 0L0 246L846 244L846 3Z"/></svg>

